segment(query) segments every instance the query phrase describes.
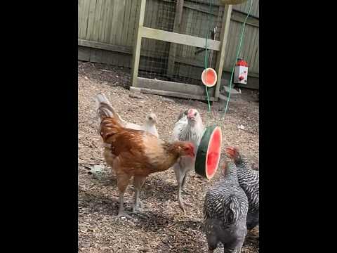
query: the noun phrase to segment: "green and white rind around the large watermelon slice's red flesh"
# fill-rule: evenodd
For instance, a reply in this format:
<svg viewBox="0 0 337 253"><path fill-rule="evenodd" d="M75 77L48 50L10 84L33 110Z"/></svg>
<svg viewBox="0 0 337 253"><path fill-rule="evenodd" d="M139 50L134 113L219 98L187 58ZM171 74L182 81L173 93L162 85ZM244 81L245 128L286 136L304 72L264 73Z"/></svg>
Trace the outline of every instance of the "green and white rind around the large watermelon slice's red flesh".
<svg viewBox="0 0 337 253"><path fill-rule="evenodd" d="M213 126L207 126L206 130L204 131L204 134L201 138L199 148L197 151L197 155L195 158L195 166L194 170L197 174L206 177L206 179L211 179L216 174L216 169L218 169L218 164L220 162L220 150L219 150L219 157L216 164L216 169L212 175L209 175L206 173L206 162L207 162L207 153L209 150L209 141L211 140L211 136L215 131L220 131L220 138L221 136L221 129L220 127L213 125ZM220 140L220 143L222 143L222 139Z"/></svg>

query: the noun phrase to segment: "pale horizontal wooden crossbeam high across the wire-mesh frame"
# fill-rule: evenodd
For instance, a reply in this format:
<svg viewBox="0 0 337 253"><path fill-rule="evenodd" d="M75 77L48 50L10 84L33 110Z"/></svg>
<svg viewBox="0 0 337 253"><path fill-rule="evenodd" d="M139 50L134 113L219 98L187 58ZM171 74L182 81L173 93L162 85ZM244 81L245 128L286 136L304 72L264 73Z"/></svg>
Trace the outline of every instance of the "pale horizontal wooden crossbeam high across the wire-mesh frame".
<svg viewBox="0 0 337 253"><path fill-rule="evenodd" d="M140 27L140 33L142 37L149 39L158 39L161 41L168 41L177 44L183 44L188 46L197 46L199 48L205 48L206 39L195 37L186 34L178 34L176 32L167 32L162 30L156 30L148 27ZM213 39L207 40L207 48L219 51L220 41L215 41Z"/></svg>

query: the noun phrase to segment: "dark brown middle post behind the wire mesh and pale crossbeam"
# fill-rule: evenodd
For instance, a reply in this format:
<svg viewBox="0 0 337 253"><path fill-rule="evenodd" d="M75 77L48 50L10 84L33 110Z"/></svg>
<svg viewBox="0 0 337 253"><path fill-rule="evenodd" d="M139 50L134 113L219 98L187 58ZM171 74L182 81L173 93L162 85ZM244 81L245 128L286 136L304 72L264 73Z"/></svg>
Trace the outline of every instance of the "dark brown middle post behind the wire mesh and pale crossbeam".
<svg viewBox="0 0 337 253"><path fill-rule="evenodd" d="M174 17L174 25L173 25L173 32L180 32L180 23L181 18L183 16L183 7L184 7L184 0L178 0L176 4L176 15ZM169 77L172 77L174 74L174 63L176 61L176 51L177 51L177 45L172 44L170 45L170 51L169 51L169 61L167 65L167 75Z"/></svg>

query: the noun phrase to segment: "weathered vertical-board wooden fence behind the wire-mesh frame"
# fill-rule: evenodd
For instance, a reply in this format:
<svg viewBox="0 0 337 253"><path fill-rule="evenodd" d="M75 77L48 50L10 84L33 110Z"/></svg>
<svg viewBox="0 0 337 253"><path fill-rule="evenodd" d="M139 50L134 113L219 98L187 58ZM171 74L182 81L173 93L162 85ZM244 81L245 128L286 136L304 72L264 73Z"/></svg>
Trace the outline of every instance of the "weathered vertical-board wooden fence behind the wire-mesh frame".
<svg viewBox="0 0 337 253"><path fill-rule="evenodd" d="M198 4L199 2L199 4ZM213 6L211 13L209 8L203 8L201 4L208 0L185 0L184 13L180 32L196 36L199 34L198 29L204 29L207 24L195 22L193 27L189 20L198 20L196 17L202 15L211 15L216 20L218 14L218 6ZM145 14L145 27L156 27L165 25L161 22L160 10L163 5L172 4L174 1L169 0L147 0ZM123 67L131 67L131 57L133 52L134 37L136 32L136 17L140 8L139 0L78 0L78 46L79 60L89 60L95 63L107 63L119 65ZM239 34L241 32L242 22L249 10L249 1L234 5L232 9L232 17L230 22L230 31L227 39L227 49L225 53L224 77L228 76L232 68L232 64L239 43ZM167 17L166 17L167 18ZM174 13L173 13L174 19ZM199 19L202 20L202 19ZM184 22L185 21L185 22ZM258 20L258 1L253 1L251 16L247 20L246 30L244 34L244 44L242 45L242 56L249 63L249 84L251 88L258 88L259 73L259 20ZM164 27L165 28L165 27ZM172 27L167 27L171 30ZM204 36L201 36L204 37ZM142 65L142 57L148 57L147 48L157 47L156 56L163 57L169 54L169 48L161 41L144 41L145 50L140 52L140 67ZM204 57L200 54L189 60L194 52L188 50L183 45L178 46L176 53L176 64L181 63L179 68L181 74L184 73L184 65L192 65L195 67L203 67ZM192 77L194 78L194 77Z"/></svg>

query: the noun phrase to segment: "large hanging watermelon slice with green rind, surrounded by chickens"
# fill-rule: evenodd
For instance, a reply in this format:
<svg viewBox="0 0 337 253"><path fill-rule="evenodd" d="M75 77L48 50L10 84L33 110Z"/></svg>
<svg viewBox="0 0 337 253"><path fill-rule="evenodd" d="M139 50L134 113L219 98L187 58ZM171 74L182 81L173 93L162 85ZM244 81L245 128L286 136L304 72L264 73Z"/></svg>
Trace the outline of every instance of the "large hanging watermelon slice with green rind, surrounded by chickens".
<svg viewBox="0 0 337 253"><path fill-rule="evenodd" d="M223 136L219 126L207 126L195 158L195 172L207 179L216 174L220 162Z"/></svg>

